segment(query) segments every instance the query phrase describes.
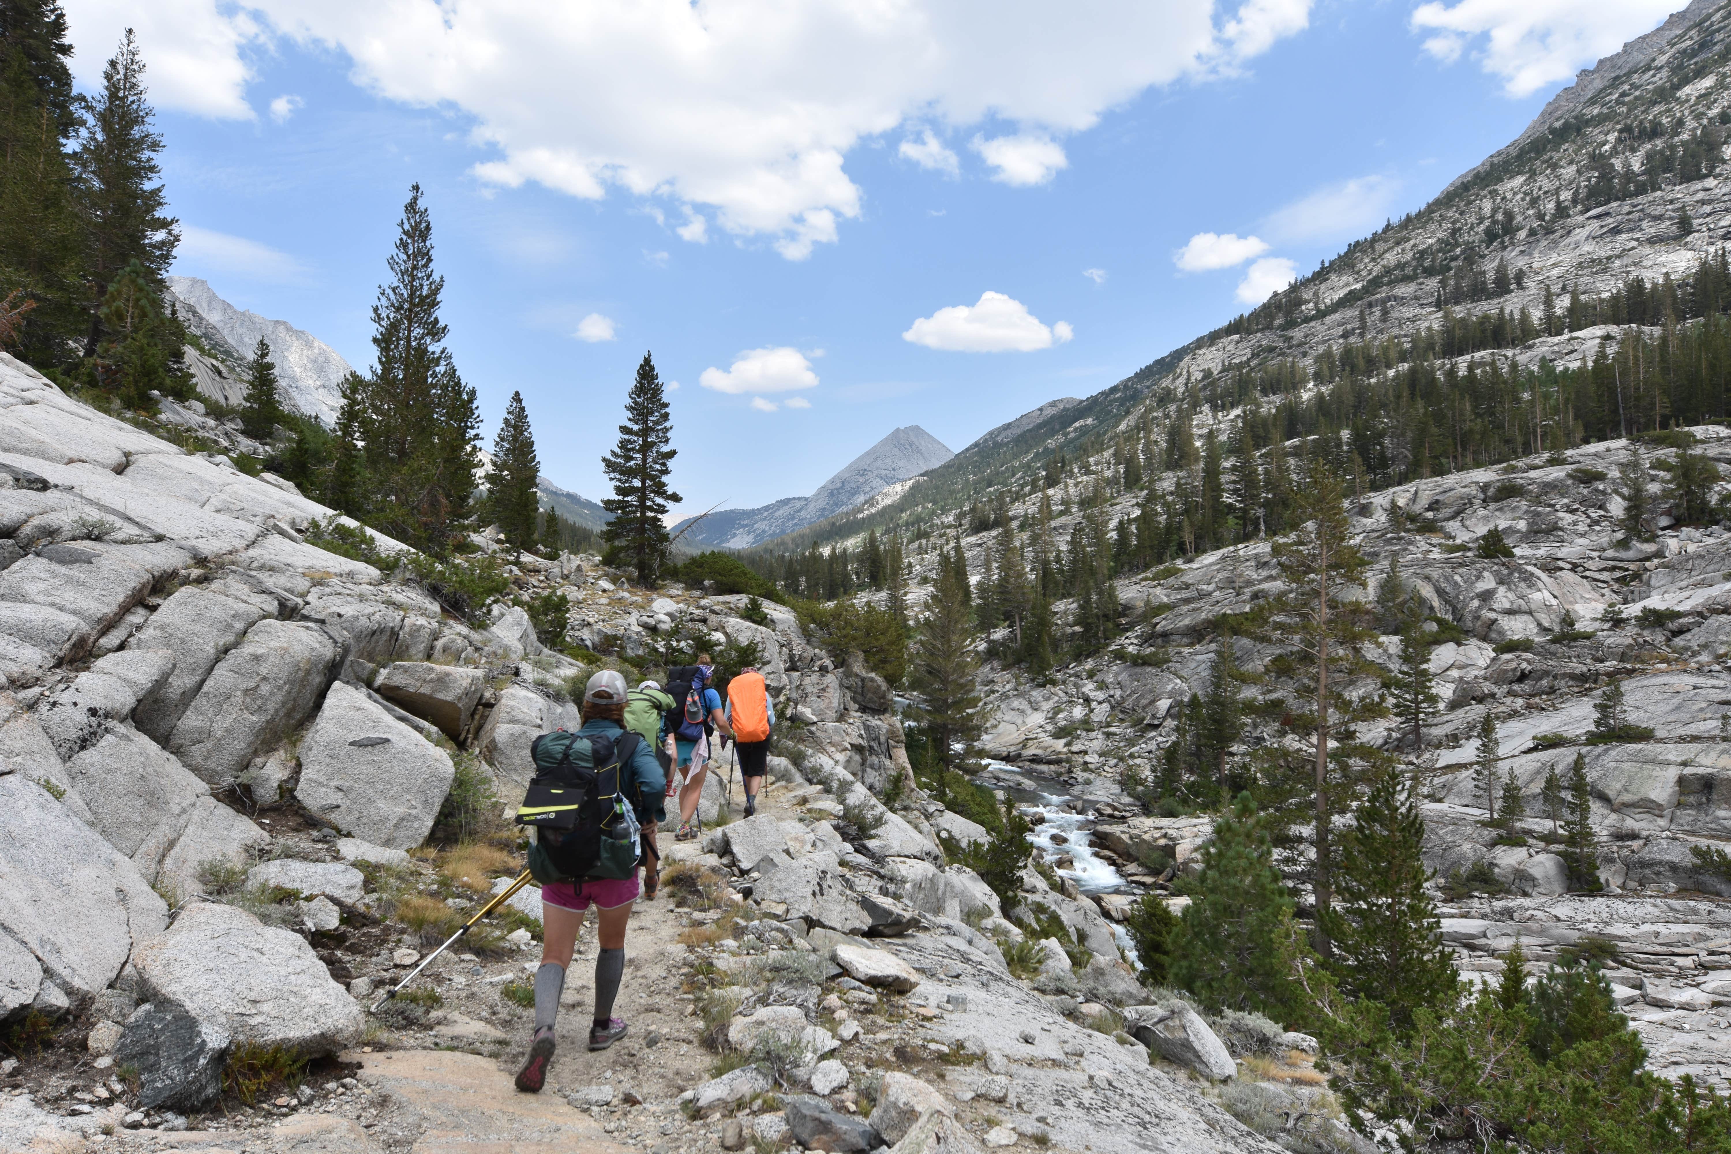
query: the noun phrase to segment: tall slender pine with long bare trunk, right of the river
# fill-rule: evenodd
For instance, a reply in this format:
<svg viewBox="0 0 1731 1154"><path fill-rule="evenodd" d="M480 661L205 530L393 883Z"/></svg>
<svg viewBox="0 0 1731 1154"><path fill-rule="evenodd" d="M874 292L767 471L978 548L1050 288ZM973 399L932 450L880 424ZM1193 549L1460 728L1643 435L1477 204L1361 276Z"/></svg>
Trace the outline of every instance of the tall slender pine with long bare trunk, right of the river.
<svg viewBox="0 0 1731 1154"><path fill-rule="evenodd" d="M1342 701L1329 680L1357 668L1357 647L1373 631L1366 626L1367 609L1354 592L1362 588L1369 561L1352 543L1345 486L1326 465L1314 465L1307 484L1297 495L1298 521L1290 538L1274 543L1274 562L1288 592L1272 606L1271 621L1309 666L1309 696L1316 708L1314 758L1314 862L1312 889L1317 910L1333 900L1329 846L1333 822L1333 787L1329 777L1329 739L1336 725L1350 720L1354 706ZM1328 953L1326 936L1321 952Z"/></svg>

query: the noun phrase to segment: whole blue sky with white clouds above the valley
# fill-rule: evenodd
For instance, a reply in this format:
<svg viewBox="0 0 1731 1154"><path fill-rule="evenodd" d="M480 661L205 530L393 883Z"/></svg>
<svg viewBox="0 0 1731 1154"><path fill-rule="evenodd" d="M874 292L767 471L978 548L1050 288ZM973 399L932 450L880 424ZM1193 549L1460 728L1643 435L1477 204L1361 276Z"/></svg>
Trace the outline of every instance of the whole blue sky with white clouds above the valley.
<svg viewBox="0 0 1731 1154"><path fill-rule="evenodd" d="M419 182L488 445L521 389L599 497L651 349L687 512L1110 386L1681 7L62 2L85 83L138 26L178 273L365 367Z"/></svg>

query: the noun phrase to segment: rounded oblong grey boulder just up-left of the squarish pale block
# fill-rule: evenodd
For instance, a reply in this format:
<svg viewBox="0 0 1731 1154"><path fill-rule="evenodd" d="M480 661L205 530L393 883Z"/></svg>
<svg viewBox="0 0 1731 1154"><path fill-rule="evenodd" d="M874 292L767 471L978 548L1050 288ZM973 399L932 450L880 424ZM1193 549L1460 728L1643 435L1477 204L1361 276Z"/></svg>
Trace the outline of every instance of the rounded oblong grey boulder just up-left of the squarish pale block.
<svg viewBox="0 0 1731 1154"><path fill-rule="evenodd" d="M204 782L228 785L312 715L339 657L317 626L260 621L211 670L168 749Z"/></svg>

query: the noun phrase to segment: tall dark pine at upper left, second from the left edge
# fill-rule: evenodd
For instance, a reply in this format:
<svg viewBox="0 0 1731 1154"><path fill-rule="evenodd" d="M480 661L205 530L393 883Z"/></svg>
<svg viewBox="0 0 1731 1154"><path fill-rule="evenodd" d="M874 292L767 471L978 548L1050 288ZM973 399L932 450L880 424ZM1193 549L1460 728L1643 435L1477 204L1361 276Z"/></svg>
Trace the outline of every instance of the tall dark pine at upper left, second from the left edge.
<svg viewBox="0 0 1731 1154"><path fill-rule="evenodd" d="M85 220L85 273L97 301L106 301L114 277L133 261L144 268L149 287L159 289L180 244L180 221L164 215L168 196L156 159L163 137L151 125L152 116L144 57L128 28L102 69L102 92L90 104L73 157ZM85 356L97 355L104 324L100 308L93 310Z"/></svg>

